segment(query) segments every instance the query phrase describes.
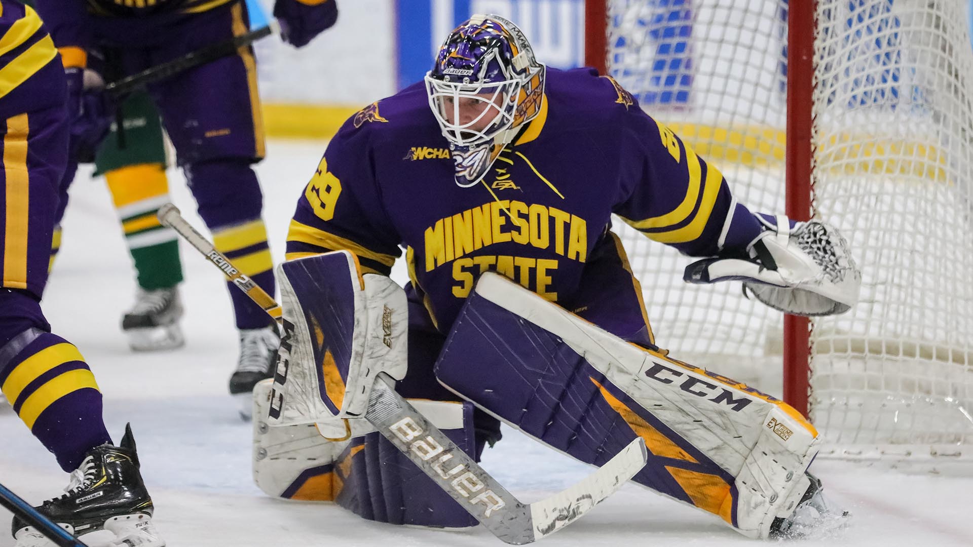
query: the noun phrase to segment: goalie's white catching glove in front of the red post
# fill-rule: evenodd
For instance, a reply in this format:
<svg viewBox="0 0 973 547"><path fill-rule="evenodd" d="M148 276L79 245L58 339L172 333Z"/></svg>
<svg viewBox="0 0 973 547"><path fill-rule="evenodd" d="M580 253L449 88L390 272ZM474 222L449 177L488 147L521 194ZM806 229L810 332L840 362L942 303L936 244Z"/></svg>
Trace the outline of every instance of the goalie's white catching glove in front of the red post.
<svg viewBox="0 0 973 547"><path fill-rule="evenodd" d="M739 279L760 302L796 315L844 313L858 301L861 273L847 241L817 220L791 226L785 216L755 215L765 231L744 253L726 253L686 267L689 283Z"/></svg>

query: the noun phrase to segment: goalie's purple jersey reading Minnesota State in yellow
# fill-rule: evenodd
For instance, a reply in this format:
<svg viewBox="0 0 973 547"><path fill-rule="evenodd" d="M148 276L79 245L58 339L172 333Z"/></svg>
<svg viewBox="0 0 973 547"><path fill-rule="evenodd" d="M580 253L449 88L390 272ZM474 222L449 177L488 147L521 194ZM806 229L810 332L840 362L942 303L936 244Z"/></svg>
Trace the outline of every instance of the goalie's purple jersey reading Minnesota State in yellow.
<svg viewBox="0 0 973 547"><path fill-rule="evenodd" d="M298 202L288 258L348 249L388 274L407 249L416 293L448 332L486 271L554 301L585 287L616 213L692 256L741 248L761 228L723 175L590 69L548 69L537 117L483 182L453 183L450 145L414 85L342 126Z"/></svg>

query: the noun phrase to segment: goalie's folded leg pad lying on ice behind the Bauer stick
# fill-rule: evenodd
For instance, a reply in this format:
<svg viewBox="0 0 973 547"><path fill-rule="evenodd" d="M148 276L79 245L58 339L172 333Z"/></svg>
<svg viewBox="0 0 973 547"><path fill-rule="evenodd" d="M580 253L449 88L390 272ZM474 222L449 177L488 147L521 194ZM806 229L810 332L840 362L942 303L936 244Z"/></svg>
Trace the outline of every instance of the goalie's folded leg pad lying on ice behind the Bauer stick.
<svg viewBox="0 0 973 547"><path fill-rule="evenodd" d="M440 529L477 525L365 420L354 420L362 428L343 441L325 439L313 423L270 426L271 382L254 388L253 473L261 490L286 499L332 501L364 519L393 525ZM460 449L472 452L472 404L411 402Z"/></svg>

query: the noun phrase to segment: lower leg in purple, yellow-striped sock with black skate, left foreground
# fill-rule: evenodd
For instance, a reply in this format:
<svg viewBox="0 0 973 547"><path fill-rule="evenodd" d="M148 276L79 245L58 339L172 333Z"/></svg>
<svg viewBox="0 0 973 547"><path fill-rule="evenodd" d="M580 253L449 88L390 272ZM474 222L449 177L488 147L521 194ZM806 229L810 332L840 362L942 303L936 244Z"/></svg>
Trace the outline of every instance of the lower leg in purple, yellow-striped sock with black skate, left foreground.
<svg viewBox="0 0 973 547"><path fill-rule="evenodd" d="M79 536L108 529L128 545L161 547L130 431L112 446L84 357L47 328L32 296L0 291L0 386L19 418L72 473L67 493L37 509ZM13 530L18 547L53 545L18 519Z"/></svg>

